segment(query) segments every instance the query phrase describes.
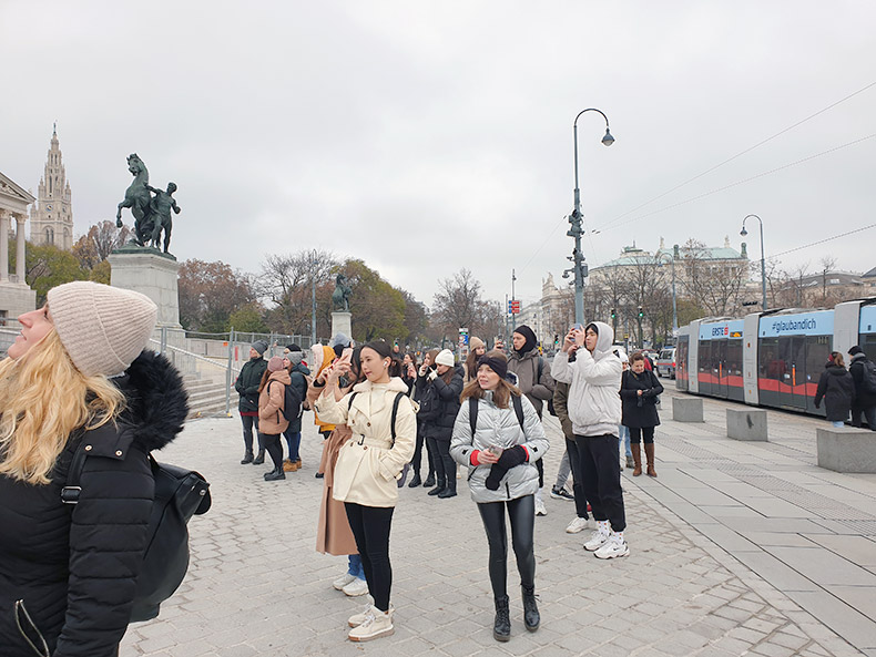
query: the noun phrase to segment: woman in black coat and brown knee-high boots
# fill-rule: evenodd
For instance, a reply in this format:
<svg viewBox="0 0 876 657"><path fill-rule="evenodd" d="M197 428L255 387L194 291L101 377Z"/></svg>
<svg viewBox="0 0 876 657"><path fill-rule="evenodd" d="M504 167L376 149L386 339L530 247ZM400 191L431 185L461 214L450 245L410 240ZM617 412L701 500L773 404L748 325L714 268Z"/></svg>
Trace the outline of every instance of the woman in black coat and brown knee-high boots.
<svg viewBox="0 0 876 657"><path fill-rule="evenodd" d="M654 427L660 424L656 412L656 398L663 392L663 386L646 369L646 358L641 351L630 357L631 367L621 377L621 423L629 428L630 443L633 453L633 476L642 474L642 445L644 440L648 459L648 476L656 476L654 469Z"/></svg>

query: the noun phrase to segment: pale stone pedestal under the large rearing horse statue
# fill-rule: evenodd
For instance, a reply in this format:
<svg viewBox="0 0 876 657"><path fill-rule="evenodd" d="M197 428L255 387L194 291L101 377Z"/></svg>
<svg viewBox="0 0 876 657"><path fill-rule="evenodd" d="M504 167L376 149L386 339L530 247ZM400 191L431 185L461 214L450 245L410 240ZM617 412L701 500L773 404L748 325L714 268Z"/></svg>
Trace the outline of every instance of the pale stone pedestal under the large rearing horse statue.
<svg viewBox="0 0 876 657"><path fill-rule="evenodd" d="M157 330L182 329L176 258L154 248L122 247L108 259L110 285L144 294L159 307Z"/></svg>

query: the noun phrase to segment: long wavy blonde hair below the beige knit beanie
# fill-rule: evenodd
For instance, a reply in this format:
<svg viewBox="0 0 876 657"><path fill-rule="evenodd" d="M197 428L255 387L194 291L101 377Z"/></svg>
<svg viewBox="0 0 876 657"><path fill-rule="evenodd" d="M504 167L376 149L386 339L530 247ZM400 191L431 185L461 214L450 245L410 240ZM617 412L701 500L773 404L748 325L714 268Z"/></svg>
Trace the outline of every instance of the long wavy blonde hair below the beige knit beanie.
<svg viewBox="0 0 876 657"><path fill-rule="evenodd" d="M70 434L114 420L124 394L80 372L52 330L20 359L0 362L0 474L47 484Z"/></svg>

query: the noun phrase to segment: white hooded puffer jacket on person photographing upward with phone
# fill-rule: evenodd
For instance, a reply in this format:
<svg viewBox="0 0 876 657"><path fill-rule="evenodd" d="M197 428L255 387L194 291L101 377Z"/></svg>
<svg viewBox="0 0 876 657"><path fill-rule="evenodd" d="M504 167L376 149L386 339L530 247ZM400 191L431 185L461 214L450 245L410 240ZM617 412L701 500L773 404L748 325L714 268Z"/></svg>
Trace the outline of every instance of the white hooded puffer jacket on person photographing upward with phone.
<svg viewBox="0 0 876 657"><path fill-rule="evenodd" d="M592 324L599 330L593 353L581 347L569 362L569 355L560 351L553 357L551 374L570 383L568 409L575 435L618 435L623 366L611 350L614 331L601 321Z"/></svg>

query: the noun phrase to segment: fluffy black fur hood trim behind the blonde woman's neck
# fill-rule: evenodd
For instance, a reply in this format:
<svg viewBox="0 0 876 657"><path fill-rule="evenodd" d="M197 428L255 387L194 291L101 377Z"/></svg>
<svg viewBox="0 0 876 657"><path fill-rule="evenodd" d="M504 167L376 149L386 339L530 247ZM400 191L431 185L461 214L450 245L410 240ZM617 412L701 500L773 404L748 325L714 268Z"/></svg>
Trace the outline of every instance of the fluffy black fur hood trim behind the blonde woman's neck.
<svg viewBox="0 0 876 657"><path fill-rule="evenodd" d="M143 351L113 382L128 400L118 421L120 432L129 433L134 444L146 452L160 450L183 430L189 394L166 357Z"/></svg>

